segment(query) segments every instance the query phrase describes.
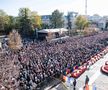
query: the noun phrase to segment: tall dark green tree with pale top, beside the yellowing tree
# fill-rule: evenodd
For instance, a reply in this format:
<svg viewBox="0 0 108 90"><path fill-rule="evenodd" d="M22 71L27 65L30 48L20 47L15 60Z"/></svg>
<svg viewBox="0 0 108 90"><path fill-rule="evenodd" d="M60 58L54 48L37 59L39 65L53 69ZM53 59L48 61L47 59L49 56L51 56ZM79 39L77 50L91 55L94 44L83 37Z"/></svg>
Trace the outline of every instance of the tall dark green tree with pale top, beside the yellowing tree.
<svg viewBox="0 0 108 90"><path fill-rule="evenodd" d="M19 9L20 33L23 36L30 36L33 33L32 20L30 19L31 11L28 8Z"/></svg>

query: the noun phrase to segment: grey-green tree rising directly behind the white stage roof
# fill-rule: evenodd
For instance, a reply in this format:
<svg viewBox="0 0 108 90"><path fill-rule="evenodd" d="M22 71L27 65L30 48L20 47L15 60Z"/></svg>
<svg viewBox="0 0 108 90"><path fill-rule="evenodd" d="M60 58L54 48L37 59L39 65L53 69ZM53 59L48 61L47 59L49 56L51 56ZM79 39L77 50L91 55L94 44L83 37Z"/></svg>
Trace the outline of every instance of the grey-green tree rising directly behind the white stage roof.
<svg viewBox="0 0 108 90"><path fill-rule="evenodd" d="M52 12L50 17L51 25L53 28L62 28L64 21L63 21L63 13L60 13L58 10Z"/></svg>

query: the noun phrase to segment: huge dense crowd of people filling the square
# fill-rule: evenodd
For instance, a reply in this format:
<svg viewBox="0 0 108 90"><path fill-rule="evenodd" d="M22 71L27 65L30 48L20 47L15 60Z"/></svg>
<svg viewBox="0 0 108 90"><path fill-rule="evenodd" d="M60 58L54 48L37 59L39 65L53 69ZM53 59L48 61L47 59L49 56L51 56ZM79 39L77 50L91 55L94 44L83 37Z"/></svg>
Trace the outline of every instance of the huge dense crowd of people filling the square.
<svg viewBox="0 0 108 90"><path fill-rule="evenodd" d="M12 67L8 70L8 79L10 77L12 85L9 87L4 84L5 77L0 78L0 85L2 88L4 86L4 90L40 90L41 85L46 84L51 77L65 74L68 68L73 71L75 65L87 62L108 45L107 40L108 32L51 42L25 39L23 47L17 52L10 50L4 42L2 51L5 53L0 60L5 61L1 64L2 68L7 68L7 62L11 63L8 64ZM1 70L2 68L0 67ZM6 72L2 70L0 75L4 73Z"/></svg>

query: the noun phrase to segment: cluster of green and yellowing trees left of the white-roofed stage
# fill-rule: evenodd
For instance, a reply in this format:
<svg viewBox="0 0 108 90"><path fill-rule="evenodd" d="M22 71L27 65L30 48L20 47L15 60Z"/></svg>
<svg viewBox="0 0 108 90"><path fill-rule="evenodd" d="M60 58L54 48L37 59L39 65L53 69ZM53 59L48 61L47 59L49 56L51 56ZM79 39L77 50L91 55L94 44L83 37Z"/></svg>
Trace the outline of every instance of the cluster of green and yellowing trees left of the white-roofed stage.
<svg viewBox="0 0 108 90"><path fill-rule="evenodd" d="M29 8L20 8L17 17L7 15L0 10L0 32L8 34L16 29L23 36L32 35L35 28L41 29L41 17Z"/></svg>

